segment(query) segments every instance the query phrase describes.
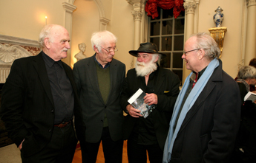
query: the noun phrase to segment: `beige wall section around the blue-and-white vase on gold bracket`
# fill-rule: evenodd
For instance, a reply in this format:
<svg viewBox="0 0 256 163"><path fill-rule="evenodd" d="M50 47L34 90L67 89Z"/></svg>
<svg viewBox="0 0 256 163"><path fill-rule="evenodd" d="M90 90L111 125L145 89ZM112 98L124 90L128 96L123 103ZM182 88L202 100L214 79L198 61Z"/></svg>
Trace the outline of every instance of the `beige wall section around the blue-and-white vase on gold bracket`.
<svg viewBox="0 0 256 163"><path fill-rule="evenodd" d="M237 64L242 55L242 21L243 1L241 0L201 0L199 4L198 32L209 32L214 27L213 16L217 7L223 9L224 20L222 27L227 27L224 38L222 57L223 70L232 77L237 75Z"/></svg>

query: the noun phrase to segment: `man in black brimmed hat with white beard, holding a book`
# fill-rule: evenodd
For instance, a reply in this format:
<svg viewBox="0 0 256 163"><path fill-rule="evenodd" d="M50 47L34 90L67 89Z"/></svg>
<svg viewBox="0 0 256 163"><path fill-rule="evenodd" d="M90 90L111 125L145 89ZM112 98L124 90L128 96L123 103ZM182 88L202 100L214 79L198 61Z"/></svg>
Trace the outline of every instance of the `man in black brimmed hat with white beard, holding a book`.
<svg viewBox="0 0 256 163"><path fill-rule="evenodd" d="M165 58L153 43L140 44L138 50L129 51L137 57L135 69L130 69L122 86L121 105L128 114L124 123L124 139L128 139L129 162L162 162L163 148L168 134L174 103L179 94L179 77L168 69L160 68L157 61ZM144 102L155 105L144 118L140 110L128 103L128 99L142 89Z"/></svg>

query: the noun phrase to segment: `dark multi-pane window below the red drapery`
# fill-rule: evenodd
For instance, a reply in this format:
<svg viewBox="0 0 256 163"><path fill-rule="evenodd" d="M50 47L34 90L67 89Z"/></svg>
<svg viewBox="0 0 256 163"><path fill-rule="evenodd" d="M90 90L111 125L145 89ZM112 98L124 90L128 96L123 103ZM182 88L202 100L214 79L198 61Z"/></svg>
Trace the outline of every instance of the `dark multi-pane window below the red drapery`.
<svg viewBox="0 0 256 163"><path fill-rule="evenodd" d="M159 52L165 53L166 58L161 60L160 66L171 69L183 80L183 44L185 12L182 11L175 19L173 10L158 8L159 16L155 19L148 17L148 39L157 44Z"/></svg>

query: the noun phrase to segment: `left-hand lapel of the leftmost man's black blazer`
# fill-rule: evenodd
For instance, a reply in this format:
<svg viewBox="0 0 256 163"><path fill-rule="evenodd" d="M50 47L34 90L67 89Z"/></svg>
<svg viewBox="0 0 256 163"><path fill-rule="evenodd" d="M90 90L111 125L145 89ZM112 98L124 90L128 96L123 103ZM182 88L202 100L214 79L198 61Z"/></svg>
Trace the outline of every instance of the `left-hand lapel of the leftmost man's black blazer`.
<svg viewBox="0 0 256 163"><path fill-rule="evenodd" d="M45 89L45 93L47 94L47 97L49 98L50 103L52 103L54 106L53 95L51 94L50 83L49 83L47 71L45 68L45 61L42 58L42 52L40 52L39 55L36 55L36 57L33 58L33 66L35 67L36 72L39 75L39 80L41 81L42 86Z"/></svg>

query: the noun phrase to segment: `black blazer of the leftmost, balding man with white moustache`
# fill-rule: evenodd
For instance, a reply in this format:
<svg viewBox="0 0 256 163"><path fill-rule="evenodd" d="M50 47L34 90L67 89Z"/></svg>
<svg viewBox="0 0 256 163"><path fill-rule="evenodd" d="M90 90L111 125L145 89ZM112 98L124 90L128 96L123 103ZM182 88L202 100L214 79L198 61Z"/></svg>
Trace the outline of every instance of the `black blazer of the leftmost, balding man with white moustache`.
<svg viewBox="0 0 256 163"><path fill-rule="evenodd" d="M72 69L62 62L73 87L75 114L79 111ZM47 145L53 131L54 105L42 52L13 62L1 96L1 119L10 139L30 156Z"/></svg>

